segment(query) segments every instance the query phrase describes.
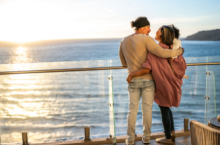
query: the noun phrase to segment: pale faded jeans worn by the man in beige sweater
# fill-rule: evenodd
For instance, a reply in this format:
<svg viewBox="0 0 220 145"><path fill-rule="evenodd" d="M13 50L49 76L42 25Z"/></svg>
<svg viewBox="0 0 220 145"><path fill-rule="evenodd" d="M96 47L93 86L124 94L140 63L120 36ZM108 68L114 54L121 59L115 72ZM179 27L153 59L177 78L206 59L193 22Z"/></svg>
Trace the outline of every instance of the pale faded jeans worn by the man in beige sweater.
<svg viewBox="0 0 220 145"><path fill-rule="evenodd" d="M135 125L140 98L142 96L143 141L150 139L152 124L152 105L155 84L153 80L134 78L128 84L129 113L127 117L127 135L129 141L135 140Z"/></svg>

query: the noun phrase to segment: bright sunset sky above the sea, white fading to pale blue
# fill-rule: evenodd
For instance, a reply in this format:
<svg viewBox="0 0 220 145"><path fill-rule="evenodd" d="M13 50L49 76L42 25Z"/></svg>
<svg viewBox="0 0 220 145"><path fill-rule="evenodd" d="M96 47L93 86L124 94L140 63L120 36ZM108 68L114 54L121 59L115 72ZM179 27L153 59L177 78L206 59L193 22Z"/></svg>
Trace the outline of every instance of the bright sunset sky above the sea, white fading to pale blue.
<svg viewBox="0 0 220 145"><path fill-rule="evenodd" d="M0 41L123 38L146 16L154 37L174 24L181 37L220 28L219 0L0 0Z"/></svg>

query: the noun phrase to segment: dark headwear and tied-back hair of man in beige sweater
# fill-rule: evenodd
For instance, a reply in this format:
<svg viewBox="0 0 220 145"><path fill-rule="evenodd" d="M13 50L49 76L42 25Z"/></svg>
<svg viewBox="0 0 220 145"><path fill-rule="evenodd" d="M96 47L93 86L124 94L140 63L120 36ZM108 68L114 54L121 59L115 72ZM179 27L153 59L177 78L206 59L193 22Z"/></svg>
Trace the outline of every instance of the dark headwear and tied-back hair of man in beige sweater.
<svg viewBox="0 0 220 145"><path fill-rule="evenodd" d="M150 22L146 17L138 17L135 21L131 21L131 28L135 27L135 30L150 25Z"/></svg>

